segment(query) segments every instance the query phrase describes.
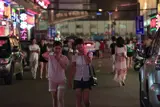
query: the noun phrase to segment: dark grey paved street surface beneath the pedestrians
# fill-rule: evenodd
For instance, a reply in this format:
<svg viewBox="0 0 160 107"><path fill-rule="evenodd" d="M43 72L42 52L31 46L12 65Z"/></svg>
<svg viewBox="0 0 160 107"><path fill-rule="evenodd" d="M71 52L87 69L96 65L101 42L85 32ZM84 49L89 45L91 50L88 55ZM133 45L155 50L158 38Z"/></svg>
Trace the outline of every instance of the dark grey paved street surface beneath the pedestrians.
<svg viewBox="0 0 160 107"><path fill-rule="evenodd" d="M91 92L91 107L139 107L138 73L129 71L126 86L118 87L113 81L112 61L95 59L99 85ZM14 80L11 86L0 85L0 107L52 107L47 80L31 80L25 72L23 81ZM65 107L75 107L74 91L66 90Z"/></svg>

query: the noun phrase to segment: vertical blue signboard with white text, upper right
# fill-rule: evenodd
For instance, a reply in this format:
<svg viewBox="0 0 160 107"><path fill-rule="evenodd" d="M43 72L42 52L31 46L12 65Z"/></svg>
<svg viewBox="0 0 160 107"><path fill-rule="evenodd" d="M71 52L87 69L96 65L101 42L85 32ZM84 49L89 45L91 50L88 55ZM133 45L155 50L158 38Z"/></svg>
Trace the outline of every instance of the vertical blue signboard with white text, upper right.
<svg viewBox="0 0 160 107"><path fill-rule="evenodd" d="M143 16L136 17L136 34L144 35L144 17Z"/></svg>

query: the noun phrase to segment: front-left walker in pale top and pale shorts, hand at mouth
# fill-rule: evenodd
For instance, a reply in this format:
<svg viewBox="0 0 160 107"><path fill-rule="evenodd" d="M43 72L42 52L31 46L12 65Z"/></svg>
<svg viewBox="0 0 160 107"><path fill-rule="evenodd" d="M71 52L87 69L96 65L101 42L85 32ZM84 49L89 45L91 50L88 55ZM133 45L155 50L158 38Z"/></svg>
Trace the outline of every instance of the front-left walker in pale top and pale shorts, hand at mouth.
<svg viewBox="0 0 160 107"><path fill-rule="evenodd" d="M62 55L62 43L54 42L54 53L46 52L42 56L48 60L49 92L52 95L53 107L64 107L65 69L69 61Z"/></svg>

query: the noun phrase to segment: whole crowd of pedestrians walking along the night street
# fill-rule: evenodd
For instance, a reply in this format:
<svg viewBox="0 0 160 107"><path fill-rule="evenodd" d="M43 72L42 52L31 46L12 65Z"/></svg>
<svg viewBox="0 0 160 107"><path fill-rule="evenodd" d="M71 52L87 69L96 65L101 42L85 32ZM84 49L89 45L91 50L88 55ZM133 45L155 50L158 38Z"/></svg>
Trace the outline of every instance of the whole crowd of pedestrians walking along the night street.
<svg viewBox="0 0 160 107"><path fill-rule="evenodd" d="M96 41L95 49L97 57L104 57L105 47L109 48L113 60L114 80L120 86L125 86L127 71L132 68L135 43L132 39L124 40L122 37L111 38L110 43ZM107 44L107 45L106 45ZM109 45L109 46L108 46ZM49 92L52 95L53 107L64 107L64 93L66 84L75 90L76 107L90 107L90 90L92 84L89 65L92 64L93 54L87 52L83 39L76 39L73 42L55 41L48 47L45 40L41 40L40 45L36 40L32 40L29 46L30 64L33 79L37 77L37 68L40 64L40 78L48 79ZM69 76L66 77L66 69L69 69ZM66 81L68 78L68 81ZM66 83L67 82L67 83Z"/></svg>

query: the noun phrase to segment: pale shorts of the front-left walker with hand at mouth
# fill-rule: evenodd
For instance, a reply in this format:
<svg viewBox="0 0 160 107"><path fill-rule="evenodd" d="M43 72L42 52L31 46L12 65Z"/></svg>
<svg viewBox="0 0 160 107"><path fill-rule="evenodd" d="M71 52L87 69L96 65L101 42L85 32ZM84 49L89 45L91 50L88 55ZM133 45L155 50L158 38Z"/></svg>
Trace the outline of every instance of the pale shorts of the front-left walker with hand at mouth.
<svg viewBox="0 0 160 107"><path fill-rule="evenodd" d="M49 92L57 91L59 89L65 89L65 87L66 87L65 82L56 83L51 80L49 80L48 85L49 85Z"/></svg>

